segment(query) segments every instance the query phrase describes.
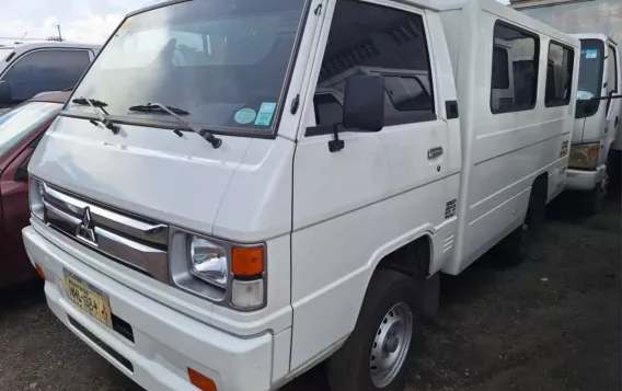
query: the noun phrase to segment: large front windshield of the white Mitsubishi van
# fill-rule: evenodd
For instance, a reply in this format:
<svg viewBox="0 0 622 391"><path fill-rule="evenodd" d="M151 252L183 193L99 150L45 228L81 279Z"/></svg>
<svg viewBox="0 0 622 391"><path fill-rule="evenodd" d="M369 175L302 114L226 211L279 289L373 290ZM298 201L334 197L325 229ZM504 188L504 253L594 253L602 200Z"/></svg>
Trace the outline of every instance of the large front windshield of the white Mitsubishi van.
<svg viewBox="0 0 622 391"><path fill-rule="evenodd" d="M306 0L203 0L128 18L73 97L106 102L112 117L173 122L161 103L216 129L273 129ZM71 104L71 112L92 113ZM176 120L174 120L176 122Z"/></svg>

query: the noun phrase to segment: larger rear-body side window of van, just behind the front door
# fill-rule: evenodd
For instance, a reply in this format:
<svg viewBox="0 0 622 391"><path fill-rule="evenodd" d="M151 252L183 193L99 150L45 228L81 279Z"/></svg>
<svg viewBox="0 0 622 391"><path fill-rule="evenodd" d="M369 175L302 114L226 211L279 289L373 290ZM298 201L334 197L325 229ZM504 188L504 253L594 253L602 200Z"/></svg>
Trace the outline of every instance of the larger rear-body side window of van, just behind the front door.
<svg viewBox="0 0 622 391"><path fill-rule="evenodd" d="M538 94L540 38L520 27L497 21L494 43L491 83L493 114L533 108Z"/></svg>

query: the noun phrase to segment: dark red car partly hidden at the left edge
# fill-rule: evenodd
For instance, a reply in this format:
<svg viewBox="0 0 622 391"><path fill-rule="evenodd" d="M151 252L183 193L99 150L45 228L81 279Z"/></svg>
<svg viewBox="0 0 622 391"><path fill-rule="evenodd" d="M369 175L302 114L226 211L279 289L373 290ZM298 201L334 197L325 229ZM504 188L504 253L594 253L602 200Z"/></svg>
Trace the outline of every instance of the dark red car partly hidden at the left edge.
<svg viewBox="0 0 622 391"><path fill-rule="evenodd" d="M70 94L41 94L0 114L0 287L36 276L22 242L31 216L27 165Z"/></svg>

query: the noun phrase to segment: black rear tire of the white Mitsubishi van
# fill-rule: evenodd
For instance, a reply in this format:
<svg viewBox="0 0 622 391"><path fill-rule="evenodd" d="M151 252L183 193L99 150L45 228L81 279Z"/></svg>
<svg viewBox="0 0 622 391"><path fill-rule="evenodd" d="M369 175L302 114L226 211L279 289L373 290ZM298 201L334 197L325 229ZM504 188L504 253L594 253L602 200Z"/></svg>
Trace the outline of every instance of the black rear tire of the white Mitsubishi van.
<svg viewBox="0 0 622 391"><path fill-rule="evenodd" d="M505 237L495 248L498 264L518 266L527 260L546 217L546 187L535 184L529 196L527 216L520 227Z"/></svg>

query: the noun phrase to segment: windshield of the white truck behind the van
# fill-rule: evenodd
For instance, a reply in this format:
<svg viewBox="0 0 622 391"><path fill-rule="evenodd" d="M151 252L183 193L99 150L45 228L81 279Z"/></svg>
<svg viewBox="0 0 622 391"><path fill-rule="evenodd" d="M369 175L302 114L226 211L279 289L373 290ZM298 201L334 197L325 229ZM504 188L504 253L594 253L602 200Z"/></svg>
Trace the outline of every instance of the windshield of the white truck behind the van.
<svg viewBox="0 0 622 391"><path fill-rule="evenodd" d="M577 100L587 101L600 96L604 44L599 39L581 39L579 87Z"/></svg>

